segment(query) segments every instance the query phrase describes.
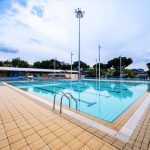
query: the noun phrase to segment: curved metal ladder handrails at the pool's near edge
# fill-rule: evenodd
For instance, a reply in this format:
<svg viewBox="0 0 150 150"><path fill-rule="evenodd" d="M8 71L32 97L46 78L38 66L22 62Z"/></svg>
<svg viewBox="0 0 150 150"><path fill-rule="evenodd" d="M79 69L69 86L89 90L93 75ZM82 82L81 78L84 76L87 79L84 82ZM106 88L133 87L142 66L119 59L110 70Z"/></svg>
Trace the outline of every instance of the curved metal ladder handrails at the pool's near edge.
<svg viewBox="0 0 150 150"><path fill-rule="evenodd" d="M59 91L57 93L55 93L54 95L54 102L53 102L53 110L55 110L55 104L56 104L56 96L57 94L62 93L63 95L61 96L61 100L60 100L60 113L62 113L62 101L63 101L63 97L65 96L68 101L69 101L69 108L70 108L70 100L73 99L74 102L76 103L76 111L77 111L77 100L72 96L72 94L70 93L64 93L63 91ZM69 95L69 96L68 96Z"/></svg>

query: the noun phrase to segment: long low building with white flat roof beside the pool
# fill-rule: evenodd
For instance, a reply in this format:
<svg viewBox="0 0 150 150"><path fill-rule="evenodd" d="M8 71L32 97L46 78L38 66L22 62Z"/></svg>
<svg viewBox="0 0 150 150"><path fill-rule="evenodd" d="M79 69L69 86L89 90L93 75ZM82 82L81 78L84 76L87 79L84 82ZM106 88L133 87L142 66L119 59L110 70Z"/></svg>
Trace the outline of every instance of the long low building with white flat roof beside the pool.
<svg viewBox="0 0 150 150"><path fill-rule="evenodd" d="M54 70L54 69L37 69L37 68L17 68L17 67L0 67L0 80L25 78L69 78L77 79L77 71Z"/></svg>

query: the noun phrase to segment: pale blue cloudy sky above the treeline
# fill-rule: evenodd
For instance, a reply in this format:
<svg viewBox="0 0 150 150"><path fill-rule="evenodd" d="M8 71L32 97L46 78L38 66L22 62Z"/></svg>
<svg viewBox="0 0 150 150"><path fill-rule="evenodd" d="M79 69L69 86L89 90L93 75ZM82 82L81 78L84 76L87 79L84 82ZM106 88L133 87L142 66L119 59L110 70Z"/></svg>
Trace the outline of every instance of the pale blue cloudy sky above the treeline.
<svg viewBox="0 0 150 150"><path fill-rule="evenodd" d="M0 60L20 57L29 63L57 58L78 60L78 19L81 19L81 60L89 65L114 57L133 59L130 68L150 62L149 0L0 0Z"/></svg>

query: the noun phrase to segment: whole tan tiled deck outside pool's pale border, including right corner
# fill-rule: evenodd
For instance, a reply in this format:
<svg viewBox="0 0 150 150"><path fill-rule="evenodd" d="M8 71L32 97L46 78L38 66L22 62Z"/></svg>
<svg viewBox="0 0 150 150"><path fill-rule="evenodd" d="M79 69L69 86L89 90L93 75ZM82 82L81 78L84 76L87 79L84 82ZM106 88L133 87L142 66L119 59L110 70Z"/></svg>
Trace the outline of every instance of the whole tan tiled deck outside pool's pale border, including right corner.
<svg viewBox="0 0 150 150"><path fill-rule="evenodd" d="M128 143L124 143L3 86L0 88L0 149L147 150L150 148L149 108Z"/></svg>

